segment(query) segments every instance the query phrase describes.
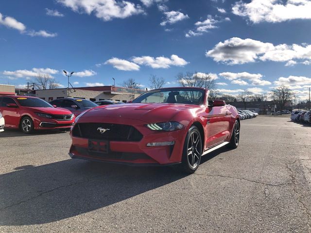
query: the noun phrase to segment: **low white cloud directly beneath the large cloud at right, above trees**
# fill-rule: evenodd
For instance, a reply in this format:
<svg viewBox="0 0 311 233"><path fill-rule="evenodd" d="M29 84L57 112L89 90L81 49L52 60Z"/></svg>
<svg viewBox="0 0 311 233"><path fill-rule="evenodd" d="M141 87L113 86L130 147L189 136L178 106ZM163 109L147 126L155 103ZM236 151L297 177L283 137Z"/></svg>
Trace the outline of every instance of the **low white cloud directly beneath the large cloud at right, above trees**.
<svg viewBox="0 0 311 233"><path fill-rule="evenodd" d="M223 76L225 79L230 80L230 81L235 81L235 82L231 82L234 84L240 84L243 85L242 83L246 83L246 82L241 82L242 79L246 79L251 81L251 85L259 85L259 86L263 86L263 85L270 85L271 82L266 81L266 80L262 80L262 75L261 74L250 74L248 72L241 72L241 73L232 73L232 72L223 72L219 74L220 76ZM236 81L236 80L240 80L240 81ZM248 84L248 83L246 83ZM246 85L245 84L245 85Z"/></svg>

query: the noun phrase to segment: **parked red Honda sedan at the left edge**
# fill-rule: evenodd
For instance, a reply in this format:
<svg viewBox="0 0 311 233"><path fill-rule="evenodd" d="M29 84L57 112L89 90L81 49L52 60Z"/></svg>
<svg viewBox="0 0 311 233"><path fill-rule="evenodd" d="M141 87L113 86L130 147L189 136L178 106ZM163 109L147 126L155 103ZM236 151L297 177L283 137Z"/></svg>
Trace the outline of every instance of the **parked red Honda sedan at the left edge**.
<svg viewBox="0 0 311 233"><path fill-rule="evenodd" d="M75 119L69 110L54 108L44 100L29 96L1 96L0 112L5 119L5 127L19 128L24 133L66 130Z"/></svg>

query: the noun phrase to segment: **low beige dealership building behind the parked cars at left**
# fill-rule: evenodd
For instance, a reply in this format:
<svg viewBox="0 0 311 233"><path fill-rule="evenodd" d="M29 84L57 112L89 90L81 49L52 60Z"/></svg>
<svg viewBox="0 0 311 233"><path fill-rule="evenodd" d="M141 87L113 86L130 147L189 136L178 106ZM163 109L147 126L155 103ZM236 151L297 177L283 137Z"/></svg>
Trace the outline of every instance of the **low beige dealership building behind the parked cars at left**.
<svg viewBox="0 0 311 233"><path fill-rule="evenodd" d="M90 86L90 87L75 87L75 88L56 88L46 90L35 90L35 97L42 100L51 101L63 98L81 98L91 101L98 100L116 100L127 102L134 100L145 90L125 88L119 86Z"/></svg>

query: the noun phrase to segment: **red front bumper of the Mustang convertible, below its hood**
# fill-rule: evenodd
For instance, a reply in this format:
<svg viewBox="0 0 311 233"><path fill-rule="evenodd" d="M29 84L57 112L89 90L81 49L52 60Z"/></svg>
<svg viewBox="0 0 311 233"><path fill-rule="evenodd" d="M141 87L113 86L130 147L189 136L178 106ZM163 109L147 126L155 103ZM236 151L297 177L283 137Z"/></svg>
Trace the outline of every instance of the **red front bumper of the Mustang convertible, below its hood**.
<svg viewBox="0 0 311 233"><path fill-rule="evenodd" d="M92 120L92 122L96 121ZM111 122L111 119L107 119L104 122L118 123ZM126 124L126 122L122 123ZM133 121L131 124L143 135L140 141L109 141L109 151L107 153L99 153L88 150L89 139L77 137L71 133L72 145L69 150L69 155L71 158L101 162L125 163L128 165L135 164L159 166L180 163L184 140L187 134L186 129L183 128L173 132L155 132L145 127L145 124L145 122L138 120ZM174 141L174 145L147 146L148 143L170 141Z"/></svg>

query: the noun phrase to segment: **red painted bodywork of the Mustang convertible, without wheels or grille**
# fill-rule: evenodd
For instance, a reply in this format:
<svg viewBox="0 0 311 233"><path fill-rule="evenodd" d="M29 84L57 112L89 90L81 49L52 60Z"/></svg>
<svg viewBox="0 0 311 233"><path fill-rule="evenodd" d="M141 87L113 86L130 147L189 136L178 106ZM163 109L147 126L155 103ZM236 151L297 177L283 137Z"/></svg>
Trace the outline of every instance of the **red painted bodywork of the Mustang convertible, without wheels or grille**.
<svg viewBox="0 0 311 233"><path fill-rule="evenodd" d="M81 123L109 123L130 125L142 134L140 141L109 141L111 152L143 153L145 158L127 160L122 158L104 158L89 153L88 143L90 138L73 135L71 130L72 145L69 155L72 158L81 158L103 162L117 162L127 164L170 165L181 162L183 146L186 135L191 125L195 124L203 130L204 151L219 143L230 141L233 126L239 115L235 107L208 106L207 95L203 105L174 104L174 103L127 103L104 105L87 110L77 118L76 124ZM184 127L180 130L163 132L152 131L147 124L157 122L177 121ZM94 134L97 132L94 132ZM173 146L148 147L147 143L174 141Z"/></svg>

